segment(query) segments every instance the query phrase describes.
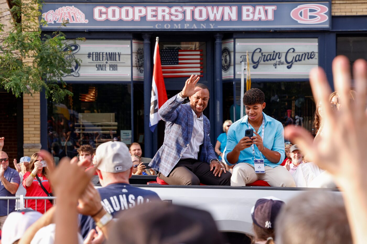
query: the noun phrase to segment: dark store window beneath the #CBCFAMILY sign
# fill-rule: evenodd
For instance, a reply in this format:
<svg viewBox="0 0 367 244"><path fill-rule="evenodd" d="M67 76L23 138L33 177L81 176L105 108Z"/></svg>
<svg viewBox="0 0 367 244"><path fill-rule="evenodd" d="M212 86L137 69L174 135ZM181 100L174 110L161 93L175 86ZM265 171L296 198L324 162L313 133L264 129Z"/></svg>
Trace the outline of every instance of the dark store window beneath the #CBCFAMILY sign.
<svg viewBox="0 0 367 244"><path fill-rule="evenodd" d="M55 155L73 157L82 144L94 149L131 135L130 84L68 84L73 93L60 103L47 103L47 146ZM125 138L126 139L126 138Z"/></svg>

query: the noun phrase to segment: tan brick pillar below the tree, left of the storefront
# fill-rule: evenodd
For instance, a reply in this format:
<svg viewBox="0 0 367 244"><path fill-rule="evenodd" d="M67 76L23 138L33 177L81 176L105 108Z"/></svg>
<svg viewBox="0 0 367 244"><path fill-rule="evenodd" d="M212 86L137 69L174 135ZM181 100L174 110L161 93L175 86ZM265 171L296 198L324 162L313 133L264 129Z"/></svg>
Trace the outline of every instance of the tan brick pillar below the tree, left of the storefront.
<svg viewBox="0 0 367 244"><path fill-rule="evenodd" d="M23 95L23 118L23 150L30 156L41 149L39 93Z"/></svg>

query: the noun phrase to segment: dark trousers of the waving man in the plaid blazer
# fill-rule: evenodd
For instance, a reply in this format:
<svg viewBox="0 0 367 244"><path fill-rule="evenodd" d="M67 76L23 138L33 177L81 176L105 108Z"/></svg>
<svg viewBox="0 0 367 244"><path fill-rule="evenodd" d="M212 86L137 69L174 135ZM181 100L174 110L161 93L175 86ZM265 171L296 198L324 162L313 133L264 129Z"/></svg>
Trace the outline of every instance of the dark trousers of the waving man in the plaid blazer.
<svg viewBox="0 0 367 244"><path fill-rule="evenodd" d="M197 161L197 159L181 159L178 161L171 173L164 176L158 173L161 180L170 185L230 185L230 172L222 172L221 177L214 176L214 169L210 171L210 165L207 162Z"/></svg>

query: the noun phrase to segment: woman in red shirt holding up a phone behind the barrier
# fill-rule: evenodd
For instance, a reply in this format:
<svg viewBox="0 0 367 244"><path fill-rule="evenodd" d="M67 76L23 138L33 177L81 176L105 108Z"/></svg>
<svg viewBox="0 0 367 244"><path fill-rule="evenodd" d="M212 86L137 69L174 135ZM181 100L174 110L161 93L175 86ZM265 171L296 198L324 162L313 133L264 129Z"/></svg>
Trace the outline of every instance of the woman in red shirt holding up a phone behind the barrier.
<svg viewBox="0 0 367 244"><path fill-rule="evenodd" d="M23 176L23 186L27 191L25 196L52 196L49 174L53 165L47 164L39 153L34 153L30 157L29 169L32 172L26 172ZM45 203L46 211L53 206L51 200L37 200L36 204L36 200L28 199L25 201L25 207L30 207L43 214L45 213Z"/></svg>

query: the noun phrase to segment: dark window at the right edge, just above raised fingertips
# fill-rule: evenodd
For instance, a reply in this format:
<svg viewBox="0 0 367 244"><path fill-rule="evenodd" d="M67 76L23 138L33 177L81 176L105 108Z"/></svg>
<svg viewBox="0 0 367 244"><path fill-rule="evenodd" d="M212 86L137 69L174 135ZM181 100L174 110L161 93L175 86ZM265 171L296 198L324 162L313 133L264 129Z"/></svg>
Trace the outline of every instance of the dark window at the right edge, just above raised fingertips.
<svg viewBox="0 0 367 244"><path fill-rule="evenodd" d="M367 59L367 37L337 37L337 55L345 55L351 63Z"/></svg>

